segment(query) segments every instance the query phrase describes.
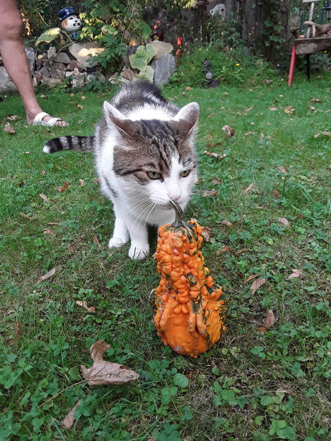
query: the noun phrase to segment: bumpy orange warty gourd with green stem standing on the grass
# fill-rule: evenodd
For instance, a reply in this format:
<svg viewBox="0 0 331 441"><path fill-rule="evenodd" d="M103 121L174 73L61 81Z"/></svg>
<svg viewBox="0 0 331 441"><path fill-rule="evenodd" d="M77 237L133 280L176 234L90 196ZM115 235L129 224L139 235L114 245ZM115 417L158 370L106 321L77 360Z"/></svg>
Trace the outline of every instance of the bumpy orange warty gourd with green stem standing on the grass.
<svg viewBox="0 0 331 441"><path fill-rule="evenodd" d="M197 357L224 333L229 299L204 266L201 226L195 219L184 222L179 204L170 203L176 220L159 227L155 256L161 280L154 289L154 325L164 345Z"/></svg>

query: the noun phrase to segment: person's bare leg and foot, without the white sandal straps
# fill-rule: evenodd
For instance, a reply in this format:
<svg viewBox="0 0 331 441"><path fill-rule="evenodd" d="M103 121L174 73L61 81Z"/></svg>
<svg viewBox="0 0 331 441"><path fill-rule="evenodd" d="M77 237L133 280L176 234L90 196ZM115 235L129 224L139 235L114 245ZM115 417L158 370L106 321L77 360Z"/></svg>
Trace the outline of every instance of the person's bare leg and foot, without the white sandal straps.
<svg viewBox="0 0 331 441"><path fill-rule="evenodd" d="M23 105L26 119L32 123L34 117L42 112L34 95L28 57L23 46L23 23L15 0L0 1L0 50L3 64L8 75L16 85ZM51 116L45 116L48 121ZM57 121L57 125L65 127L66 121Z"/></svg>

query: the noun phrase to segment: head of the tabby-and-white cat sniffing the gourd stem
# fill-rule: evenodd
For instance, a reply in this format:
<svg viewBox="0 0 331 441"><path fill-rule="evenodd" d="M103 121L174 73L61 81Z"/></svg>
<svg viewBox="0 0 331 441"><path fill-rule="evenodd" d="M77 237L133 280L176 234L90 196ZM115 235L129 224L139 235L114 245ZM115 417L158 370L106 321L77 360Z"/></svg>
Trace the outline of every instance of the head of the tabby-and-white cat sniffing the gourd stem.
<svg viewBox="0 0 331 441"><path fill-rule="evenodd" d="M170 209L173 198L186 205L197 181L194 145L199 105L190 103L169 119L131 121L104 104L114 143L113 170L132 194L148 196L152 203Z"/></svg>

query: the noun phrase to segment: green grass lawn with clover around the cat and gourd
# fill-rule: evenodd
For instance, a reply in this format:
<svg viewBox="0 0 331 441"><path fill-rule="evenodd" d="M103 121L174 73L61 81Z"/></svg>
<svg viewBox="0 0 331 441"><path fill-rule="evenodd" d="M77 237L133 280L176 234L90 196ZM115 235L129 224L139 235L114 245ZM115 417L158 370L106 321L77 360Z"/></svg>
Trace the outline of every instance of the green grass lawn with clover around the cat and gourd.
<svg viewBox="0 0 331 441"><path fill-rule="evenodd" d="M330 440L330 74L285 83L165 90L201 106L201 181L186 216L211 227L205 263L232 300L225 335L197 359L163 347L154 329L155 260L108 251L114 215L92 155L41 152L54 136L92 134L109 93L44 92L45 110L70 126L21 119L16 134L3 127L8 114L23 117L19 97L0 103L1 440ZM257 278L265 283L253 294ZM276 321L261 333L268 310ZM106 360L138 382L81 382L79 365L92 365L101 339Z"/></svg>

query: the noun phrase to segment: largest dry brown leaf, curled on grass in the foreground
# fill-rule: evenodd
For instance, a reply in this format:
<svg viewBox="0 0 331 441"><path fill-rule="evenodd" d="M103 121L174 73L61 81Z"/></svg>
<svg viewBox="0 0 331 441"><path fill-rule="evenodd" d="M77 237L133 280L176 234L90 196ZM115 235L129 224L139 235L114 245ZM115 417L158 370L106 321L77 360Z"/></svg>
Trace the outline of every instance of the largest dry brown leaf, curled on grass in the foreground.
<svg viewBox="0 0 331 441"><path fill-rule="evenodd" d="M138 380L139 374L128 367L103 360L103 353L110 348L105 340L98 340L90 347L93 365L86 369L81 365L83 377L91 386L99 384L124 384Z"/></svg>

